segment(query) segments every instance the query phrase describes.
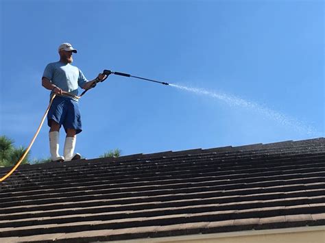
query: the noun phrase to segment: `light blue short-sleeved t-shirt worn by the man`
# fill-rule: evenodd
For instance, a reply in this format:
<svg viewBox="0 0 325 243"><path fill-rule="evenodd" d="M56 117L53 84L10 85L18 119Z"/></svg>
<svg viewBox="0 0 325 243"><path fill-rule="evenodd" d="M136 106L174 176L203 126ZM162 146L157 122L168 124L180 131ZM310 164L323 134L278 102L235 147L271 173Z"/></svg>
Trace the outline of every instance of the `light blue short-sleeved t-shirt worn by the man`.
<svg viewBox="0 0 325 243"><path fill-rule="evenodd" d="M61 90L74 95L78 94L78 86L82 88L88 81L79 68L60 61L47 64L43 77L49 79L52 84L58 86Z"/></svg>

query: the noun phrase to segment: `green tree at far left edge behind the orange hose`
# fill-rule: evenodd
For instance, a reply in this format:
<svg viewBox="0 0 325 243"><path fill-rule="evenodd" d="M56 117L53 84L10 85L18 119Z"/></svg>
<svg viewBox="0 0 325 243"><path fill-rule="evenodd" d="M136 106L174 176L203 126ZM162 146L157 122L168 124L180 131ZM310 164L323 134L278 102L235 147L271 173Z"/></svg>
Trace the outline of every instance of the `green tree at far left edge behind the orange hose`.
<svg viewBox="0 0 325 243"><path fill-rule="evenodd" d="M16 148L14 146L14 140L6 136L0 136L0 166L13 166L18 162L25 151L26 149L23 146ZM28 162L29 153L27 153L21 164L27 164Z"/></svg>

